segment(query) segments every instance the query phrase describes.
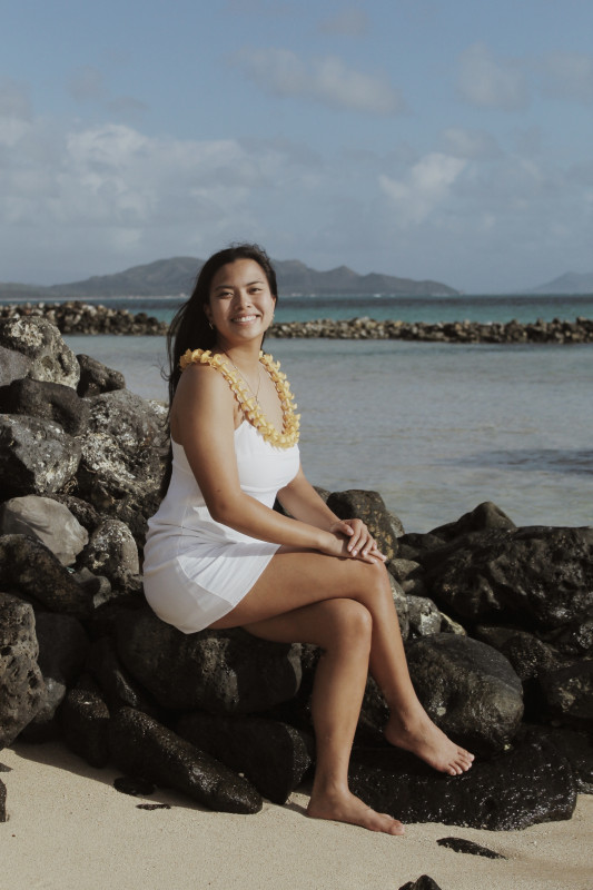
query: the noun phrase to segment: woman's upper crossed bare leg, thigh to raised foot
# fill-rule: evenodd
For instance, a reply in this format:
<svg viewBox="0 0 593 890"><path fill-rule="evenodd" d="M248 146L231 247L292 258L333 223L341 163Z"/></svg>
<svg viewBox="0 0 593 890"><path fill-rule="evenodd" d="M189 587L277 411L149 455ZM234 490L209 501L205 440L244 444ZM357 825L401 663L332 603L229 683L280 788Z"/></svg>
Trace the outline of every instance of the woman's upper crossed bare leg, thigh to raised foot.
<svg viewBox="0 0 593 890"><path fill-rule="evenodd" d="M247 596L213 626L248 626L334 599L354 600L370 613L369 668L391 710L385 730L387 741L451 775L468 770L473 755L433 723L416 696L383 564L281 548ZM294 642L306 641L295 637Z"/></svg>

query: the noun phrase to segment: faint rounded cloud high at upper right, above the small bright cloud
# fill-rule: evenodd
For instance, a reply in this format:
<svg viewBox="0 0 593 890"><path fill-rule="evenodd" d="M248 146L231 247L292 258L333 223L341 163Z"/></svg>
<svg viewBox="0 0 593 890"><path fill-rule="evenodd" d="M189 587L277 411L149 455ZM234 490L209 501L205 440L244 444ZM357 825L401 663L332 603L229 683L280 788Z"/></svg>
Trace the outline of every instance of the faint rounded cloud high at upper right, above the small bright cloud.
<svg viewBox="0 0 593 890"><path fill-rule="evenodd" d="M480 108L520 111L528 105L527 79L516 59L496 59L485 43L474 43L459 57L457 89Z"/></svg>

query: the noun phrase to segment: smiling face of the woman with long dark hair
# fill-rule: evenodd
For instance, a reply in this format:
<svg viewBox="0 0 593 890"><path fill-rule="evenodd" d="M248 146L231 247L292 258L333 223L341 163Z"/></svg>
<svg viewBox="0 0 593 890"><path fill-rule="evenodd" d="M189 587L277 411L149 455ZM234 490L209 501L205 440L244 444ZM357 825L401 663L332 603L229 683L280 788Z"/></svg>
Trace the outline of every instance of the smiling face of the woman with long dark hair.
<svg viewBox="0 0 593 890"><path fill-rule="evenodd" d="M217 330L219 345L226 347L261 338L271 324L275 306L261 266L254 259L237 259L214 276L204 312Z"/></svg>

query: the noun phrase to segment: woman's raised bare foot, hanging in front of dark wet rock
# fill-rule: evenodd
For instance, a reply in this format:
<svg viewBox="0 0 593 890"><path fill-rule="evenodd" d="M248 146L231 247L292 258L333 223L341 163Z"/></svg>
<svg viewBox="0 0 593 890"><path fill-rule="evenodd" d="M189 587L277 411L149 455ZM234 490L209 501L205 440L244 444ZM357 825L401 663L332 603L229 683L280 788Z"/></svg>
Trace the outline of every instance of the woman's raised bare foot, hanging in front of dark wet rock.
<svg viewBox="0 0 593 890"><path fill-rule="evenodd" d="M429 767L449 775L466 772L474 760L474 755L452 742L424 710L406 721L392 714L385 728L385 739L389 744L411 751Z"/></svg>

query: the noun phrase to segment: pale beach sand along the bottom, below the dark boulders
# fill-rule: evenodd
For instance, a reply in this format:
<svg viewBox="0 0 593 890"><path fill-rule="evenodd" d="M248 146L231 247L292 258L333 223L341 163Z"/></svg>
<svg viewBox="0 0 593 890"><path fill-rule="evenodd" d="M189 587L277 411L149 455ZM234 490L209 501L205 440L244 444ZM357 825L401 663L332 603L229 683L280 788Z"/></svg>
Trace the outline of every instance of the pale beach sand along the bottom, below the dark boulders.
<svg viewBox="0 0 593 890"><path fill-rule="evenodd" d="M580 797L570 822L514 832L417 824L392 838L307 819L300 793L256 815L214 813L170 792L132 798L113 789L119 772L55 743L18 743L0 762L11 768L0 773L0 890L398 890L421 874L442 890L593 888L593 797ZM437 847L448 835L507 860Z"/></svg>

